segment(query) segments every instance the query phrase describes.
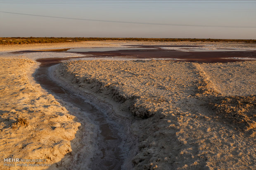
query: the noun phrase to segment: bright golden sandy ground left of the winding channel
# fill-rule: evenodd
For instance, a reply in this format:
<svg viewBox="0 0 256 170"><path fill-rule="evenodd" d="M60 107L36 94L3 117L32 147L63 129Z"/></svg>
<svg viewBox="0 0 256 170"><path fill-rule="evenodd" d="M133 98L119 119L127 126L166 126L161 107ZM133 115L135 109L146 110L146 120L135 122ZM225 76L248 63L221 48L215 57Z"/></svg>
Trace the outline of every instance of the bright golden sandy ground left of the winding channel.
<svg viewBox="0 0 256 170"><path fill-rule="evenodd" d="M4 158L46 159L45 163L56 169L56 166L61 167L62 163L65 165L65 155L80 147L75 146L79 142L71 141L75 135L80 136L76 132L81 123L69 114L67 107L63 107L32 79L31 74L36 67L37 64L32 60L0 58L2 170L9 169L3 166ZM49 167L39 169L47 168Z"/></svg>

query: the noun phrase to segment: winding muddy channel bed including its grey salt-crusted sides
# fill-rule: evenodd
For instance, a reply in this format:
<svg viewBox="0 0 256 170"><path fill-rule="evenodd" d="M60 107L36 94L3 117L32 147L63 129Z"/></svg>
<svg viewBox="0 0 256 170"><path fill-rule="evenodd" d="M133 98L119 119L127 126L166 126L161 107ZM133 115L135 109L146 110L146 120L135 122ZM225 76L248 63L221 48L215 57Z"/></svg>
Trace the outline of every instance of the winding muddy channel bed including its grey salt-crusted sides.
<svg viewBox="0 0 256 170"><path fill-rule="evenodd" d="M88 152L85 150L78 150L76 154L80 155L79 159L74 160L76 163L81 164L84 162L84 158L90 157L90 162L88 164L83 163L84 166L82 167L74 166L73 168L86 167L92 170L131 169L133 165L130 159L134 156L134 152L137 149L135 147L137 140L130 133L130 122L123 119L124 117L117 117L112 106L109 103L105 103L104 100L97 99L97 97L88 93L81 94L80 91L75 90L70 84L66 84L56 76L53 76L56 62L61 60L40 60L41 66L35 75L36 79L48 91L54 92L53 95L61 99L61 103L68 102L81 109L83 115L77 115L70 108L73 115L81 122L81 126L84 126L86 129L87 122L84 121L85 119L97 127L95 128L96 130L91 129L88 132L94 133L94 143L88 145L82 142L83 145L93 148L91 149L92 155L88 156ZM66 60L66 58L63 60ZM83 138L80 140L83 140Z"/></svg>

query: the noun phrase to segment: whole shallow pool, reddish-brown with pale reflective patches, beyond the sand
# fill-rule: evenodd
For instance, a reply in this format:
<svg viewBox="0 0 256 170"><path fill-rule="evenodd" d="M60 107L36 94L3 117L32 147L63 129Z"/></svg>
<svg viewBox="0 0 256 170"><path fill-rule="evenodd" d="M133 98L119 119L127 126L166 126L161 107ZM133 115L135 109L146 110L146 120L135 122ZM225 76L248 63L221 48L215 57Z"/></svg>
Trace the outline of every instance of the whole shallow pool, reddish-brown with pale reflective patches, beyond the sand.
<svg viewBox="0 0 256 170"><path fill-rule="evenodd" d="M197 48L196 48L197 47ZM237 62L255 60L255 50L239 49L204 49L202 46L132 46L132 48L65 48L33 51L15 51L12 54L39 53L41 55L75 56L80 55L83 60L97 60L97 58L117 59L169 59L185 62ZM169 48L169 49L163 49ZM175 49L172 49L175 48ZM51 52L51 54L49 54ZM78 57L75 57L78 58Z"/></svg>

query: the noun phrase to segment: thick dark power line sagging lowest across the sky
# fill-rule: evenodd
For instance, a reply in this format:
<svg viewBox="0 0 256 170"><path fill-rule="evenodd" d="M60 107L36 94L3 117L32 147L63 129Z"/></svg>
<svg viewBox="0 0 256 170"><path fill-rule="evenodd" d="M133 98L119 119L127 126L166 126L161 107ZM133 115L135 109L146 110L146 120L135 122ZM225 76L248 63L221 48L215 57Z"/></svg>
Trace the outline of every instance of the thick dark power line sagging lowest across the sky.
<svg viewBox="0 0 256 170"><path fill-rule="evenodd" d="M228 26L228 25L191 25L191 24L166 24L166 23L142 23L142 22L129 22L129 21L111 21L111 20L96 20L96 19L85 19L85 18L69 18L60 16L45 16L36 14L23 14L16 12L0 11L7 14L18 14L27 16L40 16L47 18L60 18L60 19L71 19L71 20L82 20L82 21L97 21L97 22L108 22L108 23L130 23L130 24L143 24L143 25L170 25L170 26L190 26L190 27L218 27L218 28L256 28L256 26Z"/></svg>

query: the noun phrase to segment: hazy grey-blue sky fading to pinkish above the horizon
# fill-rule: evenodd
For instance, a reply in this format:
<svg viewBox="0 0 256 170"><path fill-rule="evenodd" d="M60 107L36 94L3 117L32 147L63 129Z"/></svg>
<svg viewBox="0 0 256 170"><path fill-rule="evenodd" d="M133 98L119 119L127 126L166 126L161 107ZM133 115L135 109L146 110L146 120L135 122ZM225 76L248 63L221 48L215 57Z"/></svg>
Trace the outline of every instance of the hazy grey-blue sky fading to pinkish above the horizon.
<svg viewBox="0 0 256 170"><path fill-rule="evenodd" d="M0 37L256 39L256 0L19 1L0 0Z"/></svg>

